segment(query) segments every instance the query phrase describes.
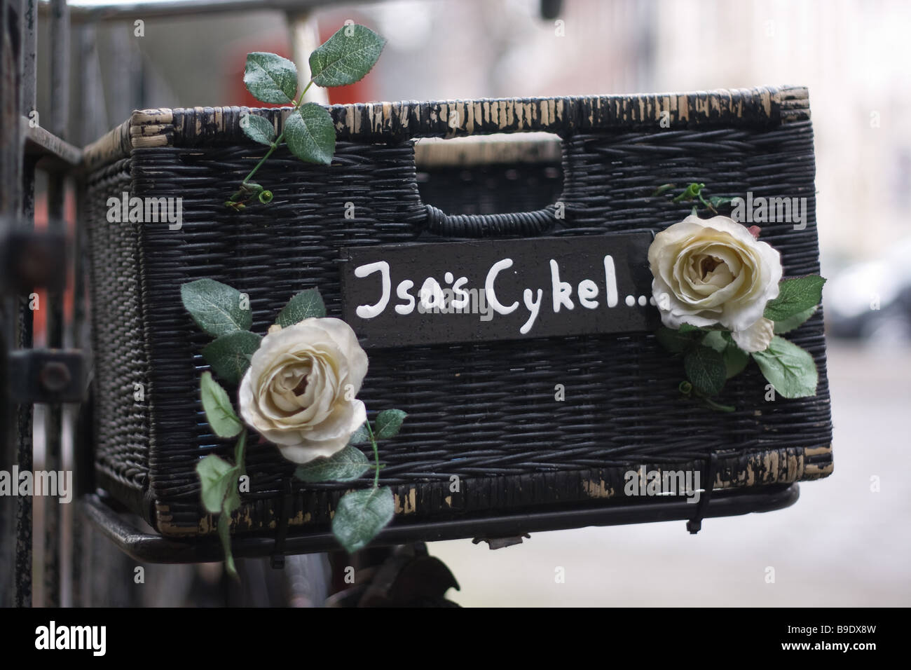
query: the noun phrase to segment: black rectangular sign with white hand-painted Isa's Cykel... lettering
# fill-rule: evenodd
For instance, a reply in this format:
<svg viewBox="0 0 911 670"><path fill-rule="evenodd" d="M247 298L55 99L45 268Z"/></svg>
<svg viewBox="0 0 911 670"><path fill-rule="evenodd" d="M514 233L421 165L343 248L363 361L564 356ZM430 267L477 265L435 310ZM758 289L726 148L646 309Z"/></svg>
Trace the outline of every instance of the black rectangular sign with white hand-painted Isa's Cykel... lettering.
<svg viewBox="0 0 911 670"><path fill-rule="evenodd" d="M349 247L343 319L365 347L653 330L652 237Z"/></svg>

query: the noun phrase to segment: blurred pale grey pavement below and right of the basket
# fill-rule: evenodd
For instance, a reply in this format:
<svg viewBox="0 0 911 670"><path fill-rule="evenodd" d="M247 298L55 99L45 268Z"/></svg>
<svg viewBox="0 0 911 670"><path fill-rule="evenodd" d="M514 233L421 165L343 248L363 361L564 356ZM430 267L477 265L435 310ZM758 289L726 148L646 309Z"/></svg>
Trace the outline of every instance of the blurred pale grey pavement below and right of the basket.
<svg viewBox="0 0 911 670"><path fill-rule="evenodd" d="M830 340L834 473L792 507L703 521L532 533L496 551L435 542L466 606L911 605L911 350ZM871 477L880 492L871 491ZM767 567L774 583L766 583ZM557 583L557 567L565 583Z"/></svg>

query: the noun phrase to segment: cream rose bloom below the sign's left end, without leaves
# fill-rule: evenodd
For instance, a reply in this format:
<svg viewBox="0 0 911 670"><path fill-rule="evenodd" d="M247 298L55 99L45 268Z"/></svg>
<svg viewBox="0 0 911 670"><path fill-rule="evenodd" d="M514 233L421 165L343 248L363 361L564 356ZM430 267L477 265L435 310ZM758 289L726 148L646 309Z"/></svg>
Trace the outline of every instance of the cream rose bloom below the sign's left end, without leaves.
<svg viewBox="0 0 911 670"><path fill-rule="evenodd" d="M367 355L342 320L272 326L241 380L241 417L288 460L332 456L367 420L354 399L366 374Z"/></svg>

